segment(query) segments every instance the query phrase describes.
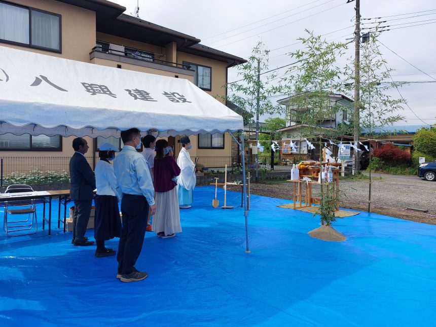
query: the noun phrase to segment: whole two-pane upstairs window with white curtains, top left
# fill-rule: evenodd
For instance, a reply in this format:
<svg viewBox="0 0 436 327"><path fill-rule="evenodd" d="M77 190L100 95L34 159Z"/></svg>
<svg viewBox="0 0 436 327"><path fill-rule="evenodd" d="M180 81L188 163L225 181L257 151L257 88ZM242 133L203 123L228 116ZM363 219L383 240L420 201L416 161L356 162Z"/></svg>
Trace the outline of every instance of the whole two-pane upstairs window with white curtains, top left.
<svg viewBox="0 0 436 327"><path fill-rule="evenodd" d="M0 41L61 52L61 16L0 2Z"/></svg>

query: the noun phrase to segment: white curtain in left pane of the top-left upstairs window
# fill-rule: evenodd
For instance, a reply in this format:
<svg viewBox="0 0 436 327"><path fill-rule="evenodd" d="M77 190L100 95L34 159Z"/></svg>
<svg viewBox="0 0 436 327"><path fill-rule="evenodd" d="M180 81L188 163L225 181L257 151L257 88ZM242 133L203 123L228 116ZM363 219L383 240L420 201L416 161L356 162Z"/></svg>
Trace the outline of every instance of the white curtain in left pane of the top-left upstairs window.
<svg viewBox="0 0 436 327"><path fill-rule="evenodd" d="M0 3L0 39L29 44L29 11Z"/></svg>

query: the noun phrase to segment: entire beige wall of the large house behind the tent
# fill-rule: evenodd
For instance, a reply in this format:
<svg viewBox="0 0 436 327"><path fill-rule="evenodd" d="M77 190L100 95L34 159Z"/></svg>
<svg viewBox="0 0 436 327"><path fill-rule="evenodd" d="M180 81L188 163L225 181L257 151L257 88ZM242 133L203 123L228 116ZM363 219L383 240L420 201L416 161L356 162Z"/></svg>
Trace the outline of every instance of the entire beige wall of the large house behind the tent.
<svg viewBox="0 0 436 327"><path fill-rule="evenodd" d="M1 46L21 49L25 51L41 53L45 55L78 60L82 62L91 62L94 64L116 67L119 62L101 58L93 58L90 60L89 53L92 48L96 46L96 40L119 44L125 47L131 47L143 51L149 51L156 54L156 59L177 62L183 64L183 61L188 61L200 65L211 67L211 91L205 91L209 95L216 97L217 100L225 103L223 99L226 96L226 89L222 86L227 82L227 63L208 59L181 51L175 51L174 44L169 44L165 47L158 47L130 39L120 38L115 35L101 33L96 31L96 18L95 12L76 6L71 6L53 0L15 0L11 3L45 10L47 12L61 15L61 53L33 49L24 46L10 45L7 43L0 43ZM171 51L168 58L166 52ZM159 58L160 57L160 58ZM184 74L175 74L174 72L143 67L134 64L122 63L122 69L147 72L150 74L174 77L178 75L179 78L185 78L193 82L193 77ZM190 151L191 157L206 157L206 156L224 156L229 157L232 154L232 138L229 133L224 136L224 149L198 149L198 136L189 136L192 143L192 150ZM74 150L72 150L71 142L74 136L62 138L62 151L0 151L1 157L70 157ZM94 153L94 141L90 137L85 137L89 144L87 156ZM180 151L180 143L178 142L179 136L175 138L175 155ZM96 154L98 156L98 154ZM98 159L97 159L98 160ZM60 169L63 169L59 167Z"/></svg>

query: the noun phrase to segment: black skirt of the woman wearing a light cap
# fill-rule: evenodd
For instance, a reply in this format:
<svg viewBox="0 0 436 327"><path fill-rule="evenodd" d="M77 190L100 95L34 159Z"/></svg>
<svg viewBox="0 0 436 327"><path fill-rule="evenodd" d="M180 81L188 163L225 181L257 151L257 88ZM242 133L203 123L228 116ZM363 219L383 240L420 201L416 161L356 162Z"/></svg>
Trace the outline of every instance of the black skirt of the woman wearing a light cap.
<svg viewBox="0 0 436 327"><path fill-rule="evenodd" d="M95 203L94 238L106 241L121 235L121 217L116 196L97 195Z"/></svg>

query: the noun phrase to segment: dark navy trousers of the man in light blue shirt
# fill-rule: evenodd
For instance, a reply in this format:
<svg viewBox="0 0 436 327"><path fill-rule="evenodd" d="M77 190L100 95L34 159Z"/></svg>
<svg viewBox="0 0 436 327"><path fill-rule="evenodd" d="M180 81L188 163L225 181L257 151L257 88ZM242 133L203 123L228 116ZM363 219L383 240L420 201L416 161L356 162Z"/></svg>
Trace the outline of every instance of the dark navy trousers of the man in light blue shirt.
<svg viewBox="0 0 436 327"><path fill-rule="evenodd" d="M117 253L118 273L130 274L146 235L149 203L142 195L123 194L121 212L123 227Z"/></svg>

